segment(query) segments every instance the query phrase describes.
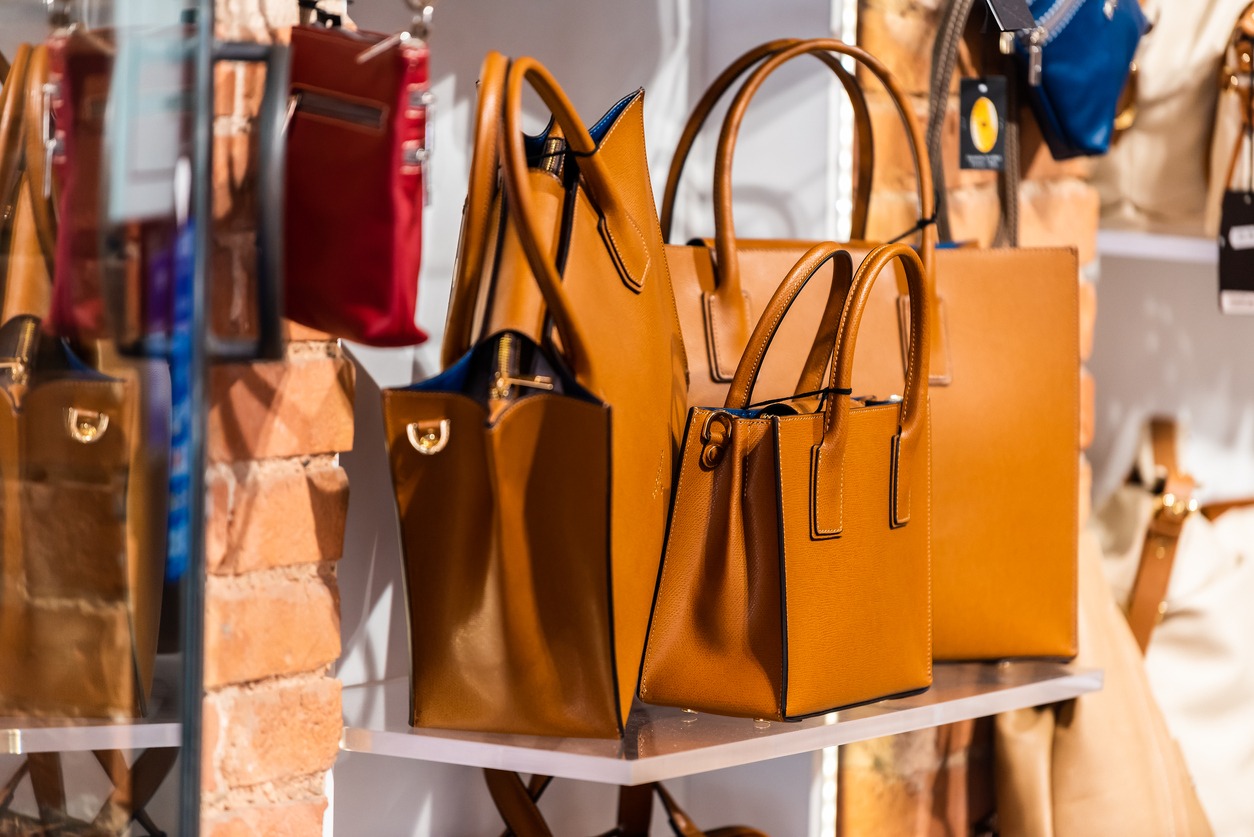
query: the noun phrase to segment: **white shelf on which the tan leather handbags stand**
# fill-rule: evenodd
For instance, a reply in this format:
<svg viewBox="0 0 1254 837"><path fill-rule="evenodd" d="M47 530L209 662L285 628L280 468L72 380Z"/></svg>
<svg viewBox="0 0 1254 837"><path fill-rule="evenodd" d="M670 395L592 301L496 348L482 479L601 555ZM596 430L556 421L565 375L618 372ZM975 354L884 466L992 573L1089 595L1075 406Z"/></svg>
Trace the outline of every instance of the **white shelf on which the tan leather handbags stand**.
<svg viewBox="0 0 1254 837"><path fill-rule="evenodd" d="M393 679L344 690L341 749L490 767L608 784L642 784L826 747L894 735L1101 689L1100 670L1055 663L937 665L928 691L798 723L767 723L645 706L623 740L414 729L409 684Z"/></svg>

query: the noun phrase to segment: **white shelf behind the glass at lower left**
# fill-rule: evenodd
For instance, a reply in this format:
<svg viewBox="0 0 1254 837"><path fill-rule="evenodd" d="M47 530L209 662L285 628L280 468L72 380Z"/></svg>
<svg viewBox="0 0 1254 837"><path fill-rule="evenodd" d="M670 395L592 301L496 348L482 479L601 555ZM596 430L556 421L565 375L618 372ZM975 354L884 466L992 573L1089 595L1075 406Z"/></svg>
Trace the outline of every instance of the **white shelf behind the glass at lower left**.
<svg viewBox="0 0 1254 837"><path fill-rule="evenodd" d="M157 659L152 710L147 718L108 720L99 718L0 718L0 754L68 753L84 750L142 750L178 747L179 659Z"/></svg>

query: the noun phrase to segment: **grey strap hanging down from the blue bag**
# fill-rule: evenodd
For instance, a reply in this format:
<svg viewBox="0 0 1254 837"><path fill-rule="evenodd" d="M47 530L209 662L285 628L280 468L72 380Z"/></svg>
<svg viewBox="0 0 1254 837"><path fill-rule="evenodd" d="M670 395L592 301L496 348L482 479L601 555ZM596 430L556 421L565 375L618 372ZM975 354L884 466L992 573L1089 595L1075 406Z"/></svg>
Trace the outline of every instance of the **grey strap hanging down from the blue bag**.
<svg viewBox="0 0 1254 837"><path fill-rule="evenodd" d="M949 196L946 192L944 157L940 138L944 117L949 107L949 84L953 82L958 51L962 48L967 19L976 0L953 0L944 10L932 50L932 75L928 85L928 159L932 162L932 182L937 191L937 232L942 241L953 241L949 222ZM1001 227L997 240L1007 247L1018 246L1018 191L1020 191L1020 131L1018 108L1014 100L1014 79L1008 79L1006 114L1006 168L998 178L1002 198Z"/></svg>

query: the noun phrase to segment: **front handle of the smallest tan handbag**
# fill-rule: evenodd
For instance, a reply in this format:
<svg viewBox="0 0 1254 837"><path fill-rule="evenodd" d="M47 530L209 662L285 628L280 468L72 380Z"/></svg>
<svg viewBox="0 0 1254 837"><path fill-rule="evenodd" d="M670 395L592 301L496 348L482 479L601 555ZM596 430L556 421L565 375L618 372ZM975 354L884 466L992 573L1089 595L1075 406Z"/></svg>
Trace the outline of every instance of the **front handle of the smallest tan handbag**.
<svg viewBox="0 0 1254 837"><path fill-rule="evenodd" d="M813 247L793 271L818 270L834 257L836 245ZM835 359L831 364L831 388L835 393L853 387L854 348L863 312L870 290L879 275L894 260L905 269L905 281L910 297L910 339L907 348L905 390L900 404L900 424L892 449L892 497L889 521L893 527L905 526L910 520L910 464L920 439L927 434L928 365L932 336L932 274L923 267L918 253L907 245L880 245L873 250L854 275L849 299L836 333ZM814 513L811 535L835 537L844 528L843 486L844 452L849 437L849 394L834 394L826 399L823 420L823 440L811 452L811 492Z"/></svg>

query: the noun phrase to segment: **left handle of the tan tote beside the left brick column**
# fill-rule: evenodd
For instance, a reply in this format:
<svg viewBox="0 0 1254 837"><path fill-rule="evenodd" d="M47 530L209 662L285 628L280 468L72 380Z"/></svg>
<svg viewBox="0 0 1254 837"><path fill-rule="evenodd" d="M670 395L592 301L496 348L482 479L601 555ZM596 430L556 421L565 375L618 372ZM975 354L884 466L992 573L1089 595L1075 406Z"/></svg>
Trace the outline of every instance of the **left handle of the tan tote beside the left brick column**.
<svg viewBox="0 0 1254 837"><path fill-rule="evenodd" d="M458 237L458 259L453 270L449 312L440 344L440 365L448 369L470 350L475 302L483 277L488 250L488 223L492 201L497 195L497 172L500 164L497 144L500 104L505 95L505 74L509 59L500 53L488 53L479 68L479 98L474 118L474 144L470 157L470 181L461 211L461 235Z"/></svg>

